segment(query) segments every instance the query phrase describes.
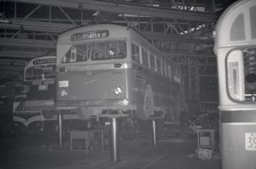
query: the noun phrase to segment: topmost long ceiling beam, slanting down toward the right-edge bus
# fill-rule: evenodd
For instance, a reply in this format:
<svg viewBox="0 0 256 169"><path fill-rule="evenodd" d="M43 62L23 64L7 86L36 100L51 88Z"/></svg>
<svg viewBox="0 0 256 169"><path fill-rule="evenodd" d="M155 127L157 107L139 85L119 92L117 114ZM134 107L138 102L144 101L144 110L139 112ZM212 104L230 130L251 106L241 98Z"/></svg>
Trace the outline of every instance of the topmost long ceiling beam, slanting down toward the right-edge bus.
<svg viewBox="0 0 256 169"><path fill-rule="evenodd" d="M132 3L93 1L93 0L16 0L17 2L27 2L41 5L62 6L72 9L96 10L104 12L127 13L139 16L153 16L165 19L182 19L195 22L216 23L218 16L207 12L191 12L177 9L167 9Z"/></svg>

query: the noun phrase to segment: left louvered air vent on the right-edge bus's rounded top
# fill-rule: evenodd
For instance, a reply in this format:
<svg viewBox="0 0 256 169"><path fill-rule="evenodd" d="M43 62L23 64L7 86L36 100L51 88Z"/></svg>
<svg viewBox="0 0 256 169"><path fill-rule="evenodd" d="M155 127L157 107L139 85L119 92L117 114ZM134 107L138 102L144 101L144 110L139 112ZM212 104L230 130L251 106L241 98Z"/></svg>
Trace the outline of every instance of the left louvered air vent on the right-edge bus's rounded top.
<svg viewBox="0 0 256 169"><path fill-rule="evenodd" d="M245 40L244 18L243 13L240 13L234 20L230 30L230 40Z"/></svg>

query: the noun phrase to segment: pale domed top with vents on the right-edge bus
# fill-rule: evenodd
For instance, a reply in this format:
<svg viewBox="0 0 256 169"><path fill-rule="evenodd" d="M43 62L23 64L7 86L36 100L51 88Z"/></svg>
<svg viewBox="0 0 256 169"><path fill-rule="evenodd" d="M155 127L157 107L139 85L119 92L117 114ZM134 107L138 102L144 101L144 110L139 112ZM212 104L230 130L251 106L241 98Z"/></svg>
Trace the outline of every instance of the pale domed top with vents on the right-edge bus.
<svg viewBox="0 0 256 169"><path fill-rule="evenodd" d="M256 1L240 0L225 9L215 28L217 48L252 44L256 40Z"/></svg>

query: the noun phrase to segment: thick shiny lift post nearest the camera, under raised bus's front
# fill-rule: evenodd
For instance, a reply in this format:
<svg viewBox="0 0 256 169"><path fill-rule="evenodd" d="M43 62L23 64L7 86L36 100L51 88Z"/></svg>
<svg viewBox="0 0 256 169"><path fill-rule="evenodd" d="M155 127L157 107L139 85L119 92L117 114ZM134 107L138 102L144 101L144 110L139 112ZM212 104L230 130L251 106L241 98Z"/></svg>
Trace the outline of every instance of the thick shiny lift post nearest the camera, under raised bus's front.
<svg viewBox="0 0 256 169"><path fill-rule="evenodd" d="M119 146L118 146L118 129L117 118L111 118L111 130L110 130L110 143L111 143L111 160L117 162L119 160Z"/></svg>

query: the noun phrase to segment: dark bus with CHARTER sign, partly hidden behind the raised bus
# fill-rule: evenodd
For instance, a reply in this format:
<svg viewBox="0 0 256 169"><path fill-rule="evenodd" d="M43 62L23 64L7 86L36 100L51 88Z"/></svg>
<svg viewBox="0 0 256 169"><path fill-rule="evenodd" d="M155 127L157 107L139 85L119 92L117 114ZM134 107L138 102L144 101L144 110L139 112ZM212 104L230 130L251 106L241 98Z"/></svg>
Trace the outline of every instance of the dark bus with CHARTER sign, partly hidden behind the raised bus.
<svg viewBox="0 0 256 169"><path fill-rule="evenodd" d="M56 110L56 56L46 55L27 62L23 73L23 95L13 102L14 129L55 132ZM63 115L63 131L86 129L88 121L70 111Z"/></svg>

